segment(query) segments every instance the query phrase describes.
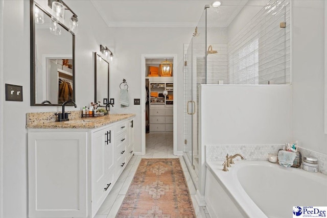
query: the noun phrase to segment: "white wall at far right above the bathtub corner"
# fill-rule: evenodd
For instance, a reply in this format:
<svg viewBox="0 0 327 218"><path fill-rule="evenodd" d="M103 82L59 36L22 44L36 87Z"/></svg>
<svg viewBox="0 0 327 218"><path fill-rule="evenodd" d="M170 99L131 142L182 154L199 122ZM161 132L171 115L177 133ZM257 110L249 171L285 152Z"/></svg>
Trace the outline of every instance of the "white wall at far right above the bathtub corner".
<svg viewBox="0 0 327 218"><path fill-rule="evenodd" d="M323 46L324 2L291 1L292 126L293 140L298 140L300 147L327 154L323 106L327 59Z"/></svg>

